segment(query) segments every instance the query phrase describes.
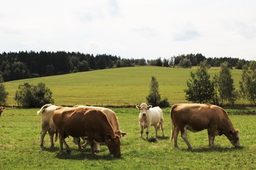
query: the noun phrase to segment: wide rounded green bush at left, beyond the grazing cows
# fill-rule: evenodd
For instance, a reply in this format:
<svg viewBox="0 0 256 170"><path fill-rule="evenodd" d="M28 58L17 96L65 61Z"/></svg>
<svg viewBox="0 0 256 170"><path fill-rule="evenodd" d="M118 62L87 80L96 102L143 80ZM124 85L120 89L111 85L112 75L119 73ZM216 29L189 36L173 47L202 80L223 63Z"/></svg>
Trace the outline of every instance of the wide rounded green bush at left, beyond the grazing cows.
<svg viewBox="0 0 256 170"><path fill-rule="evenodd" d="M14 100L17 101L18 106L23 108L39 108L46 103L54 103L52 94L46 84L33 85L24 83L18 86Z"/></svg>

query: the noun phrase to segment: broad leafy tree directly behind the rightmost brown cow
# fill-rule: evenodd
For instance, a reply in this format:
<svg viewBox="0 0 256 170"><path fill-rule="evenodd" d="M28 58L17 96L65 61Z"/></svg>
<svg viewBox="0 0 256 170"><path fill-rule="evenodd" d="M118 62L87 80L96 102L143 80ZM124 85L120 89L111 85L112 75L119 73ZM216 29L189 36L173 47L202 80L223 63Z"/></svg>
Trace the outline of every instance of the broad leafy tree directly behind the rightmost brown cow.
<svg viewBox="0 0 256 170"><path fill-rule="evenodd" d="M206 62L201 62L195 73L191 72L191 79L187 81L188 89L185 89L186 100L195 103L208 103L213 101L214 89L210 81L210 74L206 69Z"/></svg>

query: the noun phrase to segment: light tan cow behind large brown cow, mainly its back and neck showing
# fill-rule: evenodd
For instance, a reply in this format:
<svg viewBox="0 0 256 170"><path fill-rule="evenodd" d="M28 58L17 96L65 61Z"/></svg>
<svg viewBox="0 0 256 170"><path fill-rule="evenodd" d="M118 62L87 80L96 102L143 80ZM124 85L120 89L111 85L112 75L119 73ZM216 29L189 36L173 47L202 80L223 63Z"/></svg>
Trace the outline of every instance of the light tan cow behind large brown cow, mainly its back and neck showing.
<svg viewBox="0 0 256 170"><path fill-rule="evenodd" d="M98 111L102 111L103 113L105 113L107 115L107 119L110 121L110 124L112 125L114 133L116 135L118 135L120 138L123 137L124 135L127 135L127 132L122 132L122 130L120 130L117 115L110 108L96 107L96 106L83 106L83 105L76 105L73 107L74 108L82 107L82 108L89 108L89 109L95 109ZM79 142L80 141L78 140L78 143ZM86 147L86 145L87 145L87 142L85 143L85 145L82 145L82 147ZM94 147L95 152L100 151L100 143L99 142L94 141L93 147Z"/></svg>

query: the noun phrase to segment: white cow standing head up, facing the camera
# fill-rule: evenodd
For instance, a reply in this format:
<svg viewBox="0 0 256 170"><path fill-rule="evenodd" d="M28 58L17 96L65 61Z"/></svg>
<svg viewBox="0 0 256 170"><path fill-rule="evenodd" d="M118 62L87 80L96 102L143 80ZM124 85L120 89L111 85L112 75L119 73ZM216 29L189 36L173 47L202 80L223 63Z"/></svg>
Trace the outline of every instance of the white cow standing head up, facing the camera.
<svg viewBox="0 0 256 170"><path fill-rule="evenodd" d="M146 140L149 139L148 137L150 126L154 126L156 131L156 138L158 137L157 133L159 127L161 126L162 136L164 137L164 116L161 108L158 106L152 108L151 105L147 105L146 103L137 105L136 108L140 110L139 126L141 128L141 137L143 135L144 129L146 128Z"/></svg>

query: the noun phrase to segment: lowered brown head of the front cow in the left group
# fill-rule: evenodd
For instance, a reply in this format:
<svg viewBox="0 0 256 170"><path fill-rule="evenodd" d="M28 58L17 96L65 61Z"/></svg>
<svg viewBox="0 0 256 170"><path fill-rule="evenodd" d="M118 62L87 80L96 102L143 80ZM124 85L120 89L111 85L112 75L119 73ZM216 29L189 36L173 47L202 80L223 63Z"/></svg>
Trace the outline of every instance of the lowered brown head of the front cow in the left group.
<svg viewBox="0 0 256 170"><path fill-rule="evenodd" d="M107 137L105 137L105 144L107 145L107 148L110 150L110 154L113 154L114 157L121 156L121 151L120 151L121 142L119 140L118 135L113 136L108 134Z"/></svg>

